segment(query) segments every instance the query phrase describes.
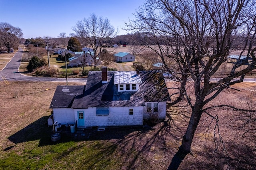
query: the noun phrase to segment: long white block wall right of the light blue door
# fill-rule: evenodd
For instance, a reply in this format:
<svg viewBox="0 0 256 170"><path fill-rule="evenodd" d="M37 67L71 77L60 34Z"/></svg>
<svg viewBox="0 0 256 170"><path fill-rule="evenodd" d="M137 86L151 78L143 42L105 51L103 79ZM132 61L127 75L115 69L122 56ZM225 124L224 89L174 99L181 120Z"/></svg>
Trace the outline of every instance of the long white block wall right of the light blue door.
<svg viewBox="0 0 256 170"><path fill-rule="evenodd" d="M133 115L129 115L129 109L133 109ZM74 112L77 111L78 109ZM110 107L108 116L96 116L96 107L82 111L84 111L85 127L143 125L143 107ZM77 120L76 114L75 120Z"/></svg>

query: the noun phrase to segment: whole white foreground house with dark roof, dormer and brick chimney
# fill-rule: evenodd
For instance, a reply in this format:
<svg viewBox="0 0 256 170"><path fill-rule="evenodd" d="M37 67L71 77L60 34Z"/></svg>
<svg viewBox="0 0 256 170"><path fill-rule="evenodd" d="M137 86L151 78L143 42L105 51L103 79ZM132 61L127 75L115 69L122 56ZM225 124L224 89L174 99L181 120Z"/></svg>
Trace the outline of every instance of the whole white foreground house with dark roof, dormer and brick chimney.
<svg viewBox="0 0 256 170"><path fill-rule="evenodd" d="M90 71L85 85L57 86L50 104L57 124L77 127L143 125L166 117L170 96L161 71Z"/></svg>

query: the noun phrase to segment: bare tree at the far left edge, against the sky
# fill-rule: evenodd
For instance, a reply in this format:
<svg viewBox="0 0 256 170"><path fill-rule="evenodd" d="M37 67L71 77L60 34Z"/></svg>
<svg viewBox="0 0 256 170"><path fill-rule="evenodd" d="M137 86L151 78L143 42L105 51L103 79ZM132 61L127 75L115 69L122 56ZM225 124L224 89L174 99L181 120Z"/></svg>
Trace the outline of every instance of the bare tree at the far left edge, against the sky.
<svg viewBox="0 0 256 170"><path fill-rule="evenodd" d="M18 47L19 39L22 38L23 33L18 27L14 27L7 22L0 23L0 44L3 44L10 53L10 48Z"/></svg>

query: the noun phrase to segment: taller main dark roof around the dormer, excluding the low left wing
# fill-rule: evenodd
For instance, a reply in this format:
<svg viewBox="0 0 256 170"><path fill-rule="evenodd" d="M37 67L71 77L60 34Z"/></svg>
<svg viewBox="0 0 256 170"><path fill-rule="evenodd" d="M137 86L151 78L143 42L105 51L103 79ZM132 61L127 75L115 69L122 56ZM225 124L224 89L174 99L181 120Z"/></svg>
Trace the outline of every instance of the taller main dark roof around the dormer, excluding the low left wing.
<svg viewBox="0 0 256 170"><path fill-rule="evenodd" d="M114 71L108 71L108 83L102 84L102 72L90 72L85 92L76 95L72 108L144 106L144 102L170 101L161 71L140 71L142 83L133 92L118 92L114 75Z"/></svg>

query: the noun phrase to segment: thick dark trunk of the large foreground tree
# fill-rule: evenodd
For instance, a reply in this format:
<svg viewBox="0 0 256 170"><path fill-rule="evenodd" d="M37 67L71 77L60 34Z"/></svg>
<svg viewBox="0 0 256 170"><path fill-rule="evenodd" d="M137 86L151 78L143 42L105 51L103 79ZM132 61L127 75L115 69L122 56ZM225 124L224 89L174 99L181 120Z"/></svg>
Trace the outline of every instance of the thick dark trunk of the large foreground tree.
<svg viewBox="0 0 256 170"><path fill-rule="evenodd" d="M202 115L202 105L200 105L200 103L196 102L194 107L192 108L192 114L190 117L190 121L188 124L188 128L186 130L186 133L183 136L182 144L181 144L178 152L172 158L172 162L171 162L170 166L168 167L168 170L177 170L178 167L180 166L181 162L186 157L186 155L189 153L192 153L191 152L191 144L192 144L192 140L194 138L194 133L195 133L198 123L200 121L201 115Z"/></svg>

